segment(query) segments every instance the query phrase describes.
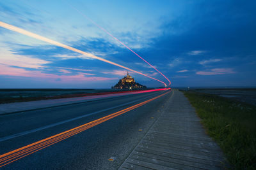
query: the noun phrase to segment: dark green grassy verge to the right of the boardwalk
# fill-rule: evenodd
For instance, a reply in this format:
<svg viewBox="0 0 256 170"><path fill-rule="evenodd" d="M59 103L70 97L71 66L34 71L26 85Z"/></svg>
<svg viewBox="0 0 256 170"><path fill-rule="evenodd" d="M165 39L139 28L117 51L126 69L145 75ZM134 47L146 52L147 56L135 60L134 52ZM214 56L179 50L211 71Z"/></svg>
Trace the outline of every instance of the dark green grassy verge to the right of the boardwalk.
<svg viewBox="0 0 256 170"><path fill-rule="evenodd" d="M232 169L256 169L256 107L200 92L184 94Z"/></svg>

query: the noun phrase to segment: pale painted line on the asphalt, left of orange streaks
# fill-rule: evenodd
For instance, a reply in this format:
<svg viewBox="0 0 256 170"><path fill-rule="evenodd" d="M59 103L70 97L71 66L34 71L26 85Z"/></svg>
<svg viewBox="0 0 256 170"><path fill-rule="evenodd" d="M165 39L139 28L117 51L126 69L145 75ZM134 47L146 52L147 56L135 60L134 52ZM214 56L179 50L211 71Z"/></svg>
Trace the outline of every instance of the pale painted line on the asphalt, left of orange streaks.
<svg viewBox="0 0 256 170"><path fill-rule="evenodd" d="M55 124L45 125L45 126L43 126L43 127L38 127L38 128L36 128L36 129L31 129L31 130L29 130L29 131L24 131L24 132L20 132L20 133L17 133L17 134L12 134L12 135L10 135L10 136L4 136L3 138L0 138L0 142L1 142L1 141L6 141L6 140L8 140L8 139L17 138L17 137L19 137L19 136L24 136L24 135L26 135L26 134L31 134L31 133L33 133L33 132L42 131L42 130L44 130L44 129L48 129L48 128L54 127L54 126L56 126L56 125L61 125L61 124L65 124L65 123L68 123L68 122L72 122L72 121L77 120L77 119L80 119L80 118L89 117L89 116L95 115L95 114L97 114L97 113L101 113L101 112L103 112L103 111L113 110L113 109L115 109L115 108L118 108L118 107L121 107L121 106L126 106L126 105L132 104L132 103L136 103L136 102L138 102L138 101L141 101L141 100L144 100L144 99L148 99L148 98L150 98L150 96L149 96L149 97L145 97L145 98L143 98L143 99L138 99L138 100L135 100L135 101L131 101L131 102L129 102L129 103L120 104L120 105L118 105L118 106L113 106L113 107L111 107L111 108L107 108L107 109L104 109L104 110L95 111L95 112L93 112L93 113L88 113L88 114L82 115L82 116L80 116L80 117L70 118L70 119L68 119L68 120L64 120L64 121L61 121L61 122L57 122L57 123L55 123Z"/></svg>

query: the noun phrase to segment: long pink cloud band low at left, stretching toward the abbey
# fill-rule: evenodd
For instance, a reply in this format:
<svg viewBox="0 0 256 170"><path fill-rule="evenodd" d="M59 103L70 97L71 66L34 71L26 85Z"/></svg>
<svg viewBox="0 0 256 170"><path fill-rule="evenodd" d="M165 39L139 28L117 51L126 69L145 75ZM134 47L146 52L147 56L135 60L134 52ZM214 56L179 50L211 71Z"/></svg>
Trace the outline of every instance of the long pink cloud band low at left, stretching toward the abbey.
<svg viewBox="0 0 256 170"><path fill-rule="evenodd" d="M90 76L86 77L84 74L76 74L76 75L56 75L56 74L48 74L42 73L41 71L28 71L22 68L9 67L5 65L0 65L0 75L5 76L20 76L20 77L32 77L32 78L45 78L49 81L106 81L106 80L116 80L118 78L105 78L105 77L97 77Z"/></svg>

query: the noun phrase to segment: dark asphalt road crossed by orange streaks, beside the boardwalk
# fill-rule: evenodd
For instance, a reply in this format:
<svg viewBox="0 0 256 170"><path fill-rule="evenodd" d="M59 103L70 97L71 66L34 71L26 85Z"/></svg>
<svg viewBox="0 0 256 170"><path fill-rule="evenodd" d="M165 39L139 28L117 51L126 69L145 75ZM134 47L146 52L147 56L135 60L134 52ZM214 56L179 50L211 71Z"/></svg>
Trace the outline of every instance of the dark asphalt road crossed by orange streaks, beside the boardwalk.
<svg viewBox="0 0 256 170"><path fill-rule="evenodd" d="M0 155L124 110L165 91L0 116ZM156 121L172 92L2 169L118 169ZM1 157L1 156L0 156ZM114 157L114 161L109 161ZM1 162L0 162L1 163Z"/></svg>

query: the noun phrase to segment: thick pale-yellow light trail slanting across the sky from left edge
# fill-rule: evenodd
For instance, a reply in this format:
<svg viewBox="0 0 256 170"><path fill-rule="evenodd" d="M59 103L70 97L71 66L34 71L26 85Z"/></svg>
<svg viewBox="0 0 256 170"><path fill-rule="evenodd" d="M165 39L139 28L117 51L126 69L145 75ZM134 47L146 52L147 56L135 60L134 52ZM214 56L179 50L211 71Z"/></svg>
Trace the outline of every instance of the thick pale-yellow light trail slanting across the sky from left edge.
<svg viewBox="0 0 256 170"><path fill-rule="evenodd" d="M62 43L59 43L58 41L54 41L54 40L52 40L52 39L45 38L44 36L40 36L40 35L35 34L35 33L33 33L33 32L26 31L26 30L24 30L24 29L21 29L21 28L19 28L19 27L15 27L15 26L10 25L10 24L7 24L7 23L5 23L5 22L1 22L1 21L0 21L0 27L4 27L5 29L9 29L9 30L11 30L11 31L19 32L20 34L24 34L24 35L26 35L26 36L30 36L30 37L35 38L35 39L39 39L39 40L41 40L41 41L45 41L45 42L47 42L47 43L51 43L52 45L56 45L56 46L60 46L60 47L62 47L62 48L66 48L66 49L71 50L71 51L73 51L73 52L81 53L81 54L85 55L86 57L90 57L90 58L92 58L92 59L97 59L97 60L101 60L101 61L103 61L103 62L107 62L107 63L109 63L109 64L113 64L114 66L118 66L118 67L121 67L121 68L123 68L123 69L127 69L127 70L129 70L129 71L132 71L132 72L134 72L134 73L141 74L141 75L143 75L143 76L147 76L148 78L151 78L151 79L153 79L153 80L159 81L159 82L163 83L164 85L166 85L166 83L164 83L163 81L157 80L156 78L153 78L153 77L151 77L151 76L148 76L147 74L141 73L141 72L136 71L136 70L134 70L134 69L130 69L130 68L128 68L128 67L122 66L122 65L117 64L117 63L115 63L115 62L111 62L110 60L102 59L102 58L100 58L100 57L97 57L96 55L92 55L92 53L83 52L83 51L81 51L81 50L78 50L77 48L73 48L73 47L71 47L71 46L64 45L64 44L62 44Z"/></svg>

